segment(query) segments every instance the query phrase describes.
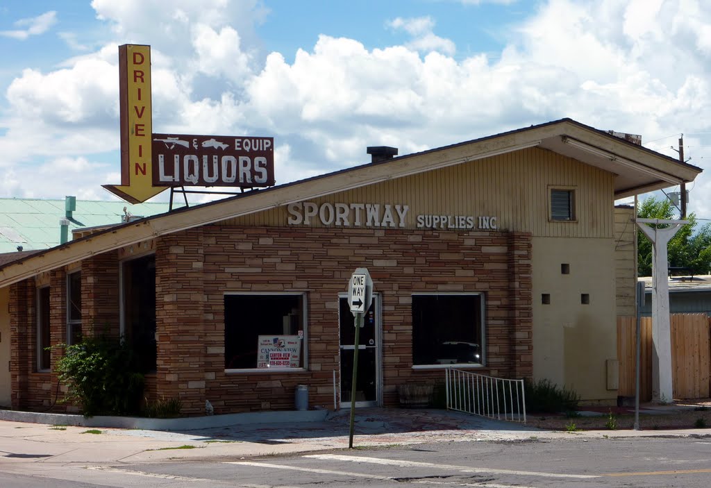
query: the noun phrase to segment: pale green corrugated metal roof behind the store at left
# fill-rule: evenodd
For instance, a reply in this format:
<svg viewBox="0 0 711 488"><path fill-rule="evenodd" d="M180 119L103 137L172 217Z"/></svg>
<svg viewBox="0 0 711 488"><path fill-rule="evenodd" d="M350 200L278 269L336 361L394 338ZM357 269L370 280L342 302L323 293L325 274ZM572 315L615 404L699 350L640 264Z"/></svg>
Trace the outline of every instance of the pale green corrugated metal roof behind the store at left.
<svg viewBox="0 0 711 488"><path fill-rule="evenodd" d="M124 208L131 215L149 217L168 212L164 202L131 205L125 202L77 200L77 210L69 220L69 239L73 229L120 224ZM176 207L181 205L176 205ZM0 198L0 253L48 249L60 242L59 220L65 218L65 200Z"/></svg>

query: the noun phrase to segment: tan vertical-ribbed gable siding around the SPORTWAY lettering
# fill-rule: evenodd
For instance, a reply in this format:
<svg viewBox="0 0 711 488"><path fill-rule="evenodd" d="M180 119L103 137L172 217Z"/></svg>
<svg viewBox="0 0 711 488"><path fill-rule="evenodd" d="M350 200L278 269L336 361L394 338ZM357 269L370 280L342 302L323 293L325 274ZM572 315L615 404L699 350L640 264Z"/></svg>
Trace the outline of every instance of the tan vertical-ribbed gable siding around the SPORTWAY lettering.
<svg viewBox="0 0 711 488"><path fill-rule="evenodd" d="M331 203L409 205L407 227L417 215L498 217L498 229L541 237L612 237L614 175L541 148L461 163L308 200ZM551 185L572 187L577 222L550 222ZM223 222L224 225L287 225L281 206ZM317 221L315 226L320 226Z"/></svg>

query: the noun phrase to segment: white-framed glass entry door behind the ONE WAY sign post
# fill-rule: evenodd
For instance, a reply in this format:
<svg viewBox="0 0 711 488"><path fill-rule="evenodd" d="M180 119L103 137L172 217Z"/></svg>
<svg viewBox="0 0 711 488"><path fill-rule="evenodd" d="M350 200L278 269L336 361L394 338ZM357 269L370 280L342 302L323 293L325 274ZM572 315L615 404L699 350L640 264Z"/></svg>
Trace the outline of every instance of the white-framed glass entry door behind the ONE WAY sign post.
<svg viewBox="0 0 711 488"><path fill-rule="evenodd" d="M355 407L379 406L380 385L380 296L373 294L373 305L365 313L358 338L358 376L355 381ZM341 336L341 407L351 408L355 318L346 295L338 297L338 328Z"/></svg>

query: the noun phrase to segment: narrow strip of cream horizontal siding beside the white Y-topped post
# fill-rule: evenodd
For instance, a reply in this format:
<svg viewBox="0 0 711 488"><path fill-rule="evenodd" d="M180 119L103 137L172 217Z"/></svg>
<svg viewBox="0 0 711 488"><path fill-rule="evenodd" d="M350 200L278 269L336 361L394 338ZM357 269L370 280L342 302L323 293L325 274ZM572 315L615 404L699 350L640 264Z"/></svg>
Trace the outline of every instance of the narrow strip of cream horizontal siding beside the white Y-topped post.
<svg viewBox="0 0 711 488"><path fill-rule="evenodd" d="M637 226L633 207L615 208L615 278L617 315L635 315Z"/></svg>

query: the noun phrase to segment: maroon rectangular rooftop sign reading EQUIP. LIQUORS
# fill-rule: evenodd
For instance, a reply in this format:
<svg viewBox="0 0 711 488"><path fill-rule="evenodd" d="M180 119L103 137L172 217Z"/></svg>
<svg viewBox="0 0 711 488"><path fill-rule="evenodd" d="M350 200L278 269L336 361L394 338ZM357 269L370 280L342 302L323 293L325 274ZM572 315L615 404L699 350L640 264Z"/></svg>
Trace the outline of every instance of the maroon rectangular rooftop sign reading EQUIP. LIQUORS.
<svg viewBox="0 0 711 488"><path fill-rule="evenodd" d="M274 138L153 134L154 186L274 186Z"/></svg>

